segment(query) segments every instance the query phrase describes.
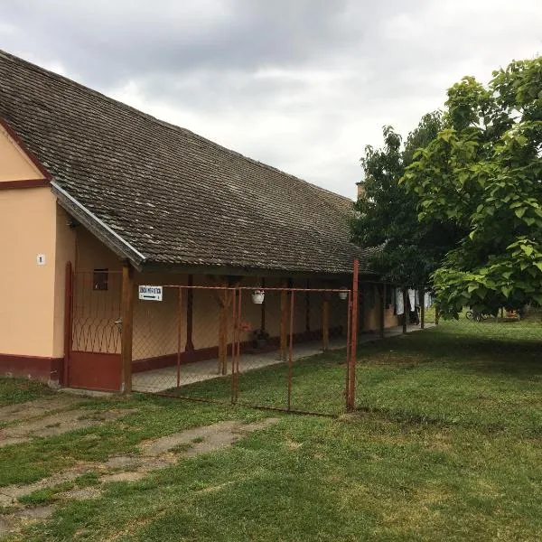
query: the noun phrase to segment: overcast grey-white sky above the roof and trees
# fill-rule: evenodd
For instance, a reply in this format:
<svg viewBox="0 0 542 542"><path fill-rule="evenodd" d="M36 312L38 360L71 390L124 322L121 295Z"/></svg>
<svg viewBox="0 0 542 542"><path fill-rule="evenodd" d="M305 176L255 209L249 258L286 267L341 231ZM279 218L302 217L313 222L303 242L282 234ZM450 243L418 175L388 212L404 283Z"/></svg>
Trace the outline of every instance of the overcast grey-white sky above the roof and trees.
<svg viewBox="0 0 542 542"><path fill-rule="evenodd" d="M382 126L542 54L542 1L0 0L0 48L354 197Z"/></svg>

